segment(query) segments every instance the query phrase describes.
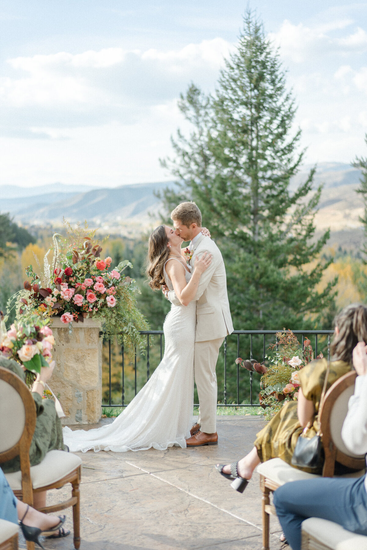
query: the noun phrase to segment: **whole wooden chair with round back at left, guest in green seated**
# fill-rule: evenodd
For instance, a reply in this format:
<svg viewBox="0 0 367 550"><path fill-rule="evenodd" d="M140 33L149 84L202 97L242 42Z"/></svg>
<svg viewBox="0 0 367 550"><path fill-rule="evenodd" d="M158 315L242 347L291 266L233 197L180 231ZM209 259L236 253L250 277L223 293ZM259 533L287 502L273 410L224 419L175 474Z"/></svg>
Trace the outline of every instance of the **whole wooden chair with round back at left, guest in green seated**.
<svg viewBox="0 0 367 550"><path fill-rule="evenodd" d="M74 547L80 547L80 471L81 460L73 453L51 450L40 464L30 466L29 448L36 426L36 406L26 384L6 368L0 367L0 464L20 457L20 471L6 474L16 497L33 505L33 493L72 484L72 496L59 504L40 508L55 513L73 507ZM27 542L34 550L34 542Z"/></svg>

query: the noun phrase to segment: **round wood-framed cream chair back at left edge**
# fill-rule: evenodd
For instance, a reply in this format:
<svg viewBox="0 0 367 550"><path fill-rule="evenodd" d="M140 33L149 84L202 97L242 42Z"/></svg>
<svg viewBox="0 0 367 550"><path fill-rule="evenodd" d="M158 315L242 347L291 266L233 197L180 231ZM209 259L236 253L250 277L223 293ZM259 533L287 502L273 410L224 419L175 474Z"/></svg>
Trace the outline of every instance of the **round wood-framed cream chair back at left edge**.
<svg viewBox="0 0 367 550"><path fill-rule="evenodd" d="M36 405L23 380L2 367L0 419L0 464L19 455L23 500L32 505L29 448L36 427Z"/></svg>

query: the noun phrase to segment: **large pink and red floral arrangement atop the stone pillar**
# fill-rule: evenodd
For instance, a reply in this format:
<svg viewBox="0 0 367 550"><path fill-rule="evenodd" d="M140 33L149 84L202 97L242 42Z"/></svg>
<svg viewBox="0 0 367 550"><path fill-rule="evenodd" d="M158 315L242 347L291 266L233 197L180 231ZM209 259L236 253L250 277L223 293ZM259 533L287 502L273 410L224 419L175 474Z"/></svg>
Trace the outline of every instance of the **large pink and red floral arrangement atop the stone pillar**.
<svg viewBox="0 0 367 550"><path fill-rule="evenodd" d="M101 259L102 247L94 239L95 231L87 231L86 225L73 229L67 224L67 238L54 234L51 265L51 249L43 270L35 256L39 272L26 268L29 280L24 290L10 298L8 311L15 297L18 319L28 320L35 313L44 319L59 315L70 330L73 322L83 322L85 317L100 319L103 335L117 336L133 353L135 345L144 346L139 331L148 327L136 304L135 294L140 291L134 279L123 273L132 264L125 260L111 270L111 258Z"/></svg>

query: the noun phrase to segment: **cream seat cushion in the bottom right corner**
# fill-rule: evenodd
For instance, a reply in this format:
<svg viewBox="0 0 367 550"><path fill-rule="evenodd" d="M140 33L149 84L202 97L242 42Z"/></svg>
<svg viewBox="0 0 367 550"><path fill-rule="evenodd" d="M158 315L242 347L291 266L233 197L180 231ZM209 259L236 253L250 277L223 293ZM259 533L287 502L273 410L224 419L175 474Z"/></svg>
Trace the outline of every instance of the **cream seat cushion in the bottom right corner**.
<svg viewBox="0 0 367 550"><path fill-rule="evenodd" d="M332 550L367 550L367 537L347 531L333 521L309 518L302 522L302 531Z"/></svg>

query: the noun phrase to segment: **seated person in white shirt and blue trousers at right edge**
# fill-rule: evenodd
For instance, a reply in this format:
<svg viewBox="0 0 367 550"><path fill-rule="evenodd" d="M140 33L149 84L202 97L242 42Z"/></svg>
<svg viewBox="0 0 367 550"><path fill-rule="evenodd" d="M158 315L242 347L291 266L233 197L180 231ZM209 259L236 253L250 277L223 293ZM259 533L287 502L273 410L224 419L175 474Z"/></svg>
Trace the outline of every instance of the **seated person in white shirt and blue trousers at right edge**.
<svg viewBox="0 0 367 550"><path fill-rule="evenodd" d="M367 319L365 320L367 323ZM353 350L357 371L354 395L349 399L342 439L350 452L367 453L367 346ZM307 518L333 521L344 529L367 535L367 478L317 477L292 481L274 493L274 505L292 550L301 548L301 524Z"/></svg>

